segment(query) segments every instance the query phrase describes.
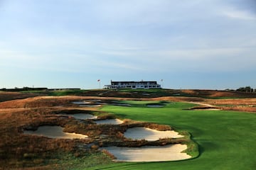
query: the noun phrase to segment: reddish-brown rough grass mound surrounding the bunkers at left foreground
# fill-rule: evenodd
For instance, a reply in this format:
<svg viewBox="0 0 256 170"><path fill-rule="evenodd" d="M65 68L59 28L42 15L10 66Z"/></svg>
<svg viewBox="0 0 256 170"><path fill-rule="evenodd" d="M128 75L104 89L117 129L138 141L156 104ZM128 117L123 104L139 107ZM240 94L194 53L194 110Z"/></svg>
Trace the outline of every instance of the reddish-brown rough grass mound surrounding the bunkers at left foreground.
<svg viewBox="0 0 256 170"><path fill-rule="evenodd" d="M62 169L58 163L63 156L73 157L97 154L99 147L144 145L167 145L188 142L190 139L163 139L156 142L129 140L123 133L127 128L147 127L156 130L171 130L166 125L125 120L122 125L97 125L92 120L76 120L61 113L90 113L98 119L115 118L110 113L97 111L97 108L79 108L72 101L92 99L91 97L60 96L16 99L0 103L0 164L1 169ZM96 101L95 101L96 102ZM110 98L102 102L111 103ZM41 125L60 125L65 132L88 135L84 140L50 139L48 137L25 135L23 130L36 130Z"/></svg>

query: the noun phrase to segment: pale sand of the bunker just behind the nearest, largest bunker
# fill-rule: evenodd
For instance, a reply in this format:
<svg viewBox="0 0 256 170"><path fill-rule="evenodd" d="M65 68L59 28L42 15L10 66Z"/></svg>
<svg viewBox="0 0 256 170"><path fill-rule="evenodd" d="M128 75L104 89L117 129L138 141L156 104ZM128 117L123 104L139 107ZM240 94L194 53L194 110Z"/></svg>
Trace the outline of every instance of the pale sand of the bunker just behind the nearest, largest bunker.
<svg viewBox="0 0 256 170"><path fill-rule="evenodd" d="M124 132L124 137L131 138L133 140L148 140L155 141L159 140L159 138L178 138L183 137L183 135L178 135L178 132L174 130L152 130L149 128L129 128L126 132Z"/></svg>

